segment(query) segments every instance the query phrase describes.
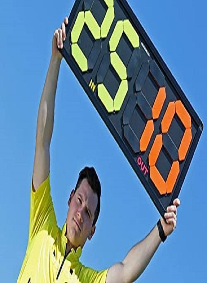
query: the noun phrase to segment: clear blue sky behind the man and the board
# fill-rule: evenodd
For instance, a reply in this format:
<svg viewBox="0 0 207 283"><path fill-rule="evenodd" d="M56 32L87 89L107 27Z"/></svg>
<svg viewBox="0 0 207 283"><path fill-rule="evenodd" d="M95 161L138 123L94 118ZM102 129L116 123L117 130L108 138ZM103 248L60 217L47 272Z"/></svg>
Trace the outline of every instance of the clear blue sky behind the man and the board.
<svg viewBox="0 0 207 283"><path fill-rule="evenodd" d="M177 228L137 281L207 282L207 5L204 0L128 2L204 123L179 195ZM0 282L16 282L24 259L37 111L53 32L73 3L0 2ZM83 264L104 269L122 260L159 214L64 60L50 154L59 226L80 169L95 166L102 183L101 213L96 233L83 249Z"/></svg>

